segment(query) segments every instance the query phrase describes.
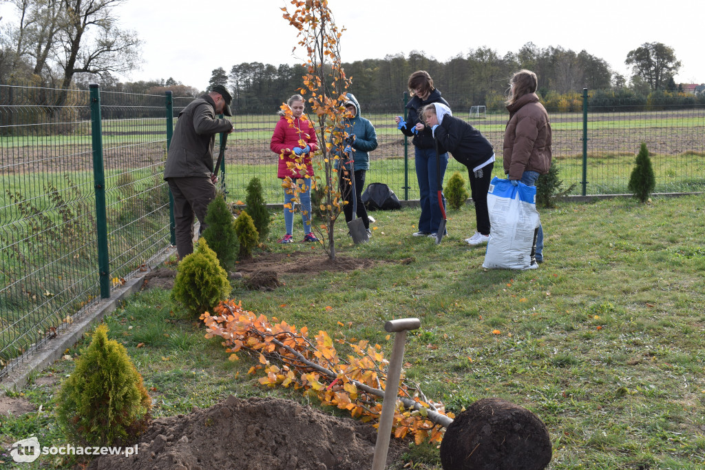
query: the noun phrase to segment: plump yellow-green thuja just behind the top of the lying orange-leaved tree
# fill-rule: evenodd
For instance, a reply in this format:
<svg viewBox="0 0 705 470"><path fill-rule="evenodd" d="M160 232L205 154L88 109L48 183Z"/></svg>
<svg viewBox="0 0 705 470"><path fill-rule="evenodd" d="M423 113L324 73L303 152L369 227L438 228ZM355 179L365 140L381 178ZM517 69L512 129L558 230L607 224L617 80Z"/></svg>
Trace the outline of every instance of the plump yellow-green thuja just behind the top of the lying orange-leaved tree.
<svg viewBox="0 0 705 470"><path fill-rule="evenodd" d="M228 298L233 288L228 273L218 263L216 253L201 237L196 249L186 255L176 267L176 279L171 298L190 313L198 316L211 311Z"/></svg>

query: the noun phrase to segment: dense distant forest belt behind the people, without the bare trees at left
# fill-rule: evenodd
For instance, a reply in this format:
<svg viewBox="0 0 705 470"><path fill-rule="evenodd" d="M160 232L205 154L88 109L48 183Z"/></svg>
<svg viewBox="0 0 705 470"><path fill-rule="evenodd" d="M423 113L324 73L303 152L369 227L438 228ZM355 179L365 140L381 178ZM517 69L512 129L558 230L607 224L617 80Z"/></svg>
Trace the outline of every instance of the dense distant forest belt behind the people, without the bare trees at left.
<svg viewBox="0 0 705 470"><path fill-rule="evenodd" d="M408 56L387 55L384 59L343 62L345 74L352 80L350 91L362 102L398 105L407 91L409 75L425 70L434 78L436 88L461 106L484 102L487 95L501 95L508 88L511 74L529 68L539 76L539 92L569 92L582 88L610 88L613 73L606 61L586 51L563 47L539 48L532 42L518 52L500 55L489 47L470 49L449 61L438 61L422 52ZM277 109L301 86L305 68L300 65L274 66L261 62L243 62L212 72L209 87L225 85L232 90L235 107L240 110Z"/></svg>

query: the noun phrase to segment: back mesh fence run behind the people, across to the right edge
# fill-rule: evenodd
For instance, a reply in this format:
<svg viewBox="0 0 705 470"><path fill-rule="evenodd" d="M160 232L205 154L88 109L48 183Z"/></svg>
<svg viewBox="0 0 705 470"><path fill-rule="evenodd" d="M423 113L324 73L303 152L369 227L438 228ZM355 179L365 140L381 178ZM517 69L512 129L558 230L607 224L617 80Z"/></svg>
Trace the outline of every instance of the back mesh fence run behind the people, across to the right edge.
<svg viewBox="0 0 705 470"><path fill-rule="evenodd" d="M656 192L687 192L705 189L705 106L667 105L658 102L635 105L628 100L601 100L589 107L587 133L583 134L582 100L546 104L553 131L553 164L558 167L563 188L570 194L627 193L627 184L642 142L651 153L656 174ZM446 97L451 107L453 97ZM467 99L464 98L464 102ZM504 177L502 146L508 113L496 104L497 97L470 100L486 105L485 112L470 107L453 108L455 116L481 131L495 147L494 174ZM369 119L379 146L370 153L367 183L386 183L400 199L419 198L414 165L414 147L397 130L394 116L403 115L403 100L361 102L362 117ZM250 107L252 109L252 107ZM268 203L281 203L283 189L276 178L278 155L269 150L278 109L240 114L233 118L235 131L228 140L228 197L244 200L245 186L257 177ZM587 138L587 154L583 140ZM314 164L314 171L316 171ZM467 179L467 169L450 159L446 174L454 171Z"/></svg>

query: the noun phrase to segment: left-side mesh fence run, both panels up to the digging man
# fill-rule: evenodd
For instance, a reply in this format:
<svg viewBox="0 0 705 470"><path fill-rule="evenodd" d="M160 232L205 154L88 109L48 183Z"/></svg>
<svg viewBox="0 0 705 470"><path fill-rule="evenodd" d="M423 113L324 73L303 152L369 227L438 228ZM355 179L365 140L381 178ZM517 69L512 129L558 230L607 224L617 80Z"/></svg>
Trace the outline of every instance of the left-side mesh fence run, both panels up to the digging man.
<svg viewBox="0 0 705 470"><path fill-rule="evenodd" d="M102 95L114 286L169 246L164 96ZM101 294L90 93L0 85L0 379Z"/></svg>

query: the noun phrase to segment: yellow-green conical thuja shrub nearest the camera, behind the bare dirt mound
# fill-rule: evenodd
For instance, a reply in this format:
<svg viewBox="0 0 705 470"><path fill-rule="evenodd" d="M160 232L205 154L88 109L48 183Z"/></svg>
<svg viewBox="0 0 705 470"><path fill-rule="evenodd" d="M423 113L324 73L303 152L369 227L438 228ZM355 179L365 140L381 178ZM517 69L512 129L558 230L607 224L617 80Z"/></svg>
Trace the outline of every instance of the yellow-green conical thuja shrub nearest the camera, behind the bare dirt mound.
<svg viewBox="0 0 705 470"><path fill-rule="evenodd" d="M126 445L147 428L152 399L142 375L107 333L106 325L97 327L56 398L57 421L70 442Z"/></svg>

